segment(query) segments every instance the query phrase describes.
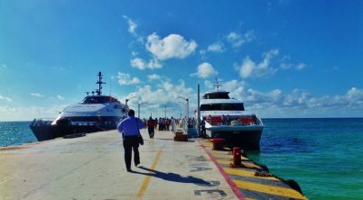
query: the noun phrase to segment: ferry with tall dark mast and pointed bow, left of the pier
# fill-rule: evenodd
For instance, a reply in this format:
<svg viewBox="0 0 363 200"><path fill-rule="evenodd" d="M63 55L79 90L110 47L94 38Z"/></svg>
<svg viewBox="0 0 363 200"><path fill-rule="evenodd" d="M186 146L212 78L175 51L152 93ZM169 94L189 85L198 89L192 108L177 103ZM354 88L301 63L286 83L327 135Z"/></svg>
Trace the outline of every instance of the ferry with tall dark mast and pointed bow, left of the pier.
<svg viewBox="0 0 363 200"><path fill-rule="evenodd" d="M102 73L98 72L98 89L76 105L69 105L55 120L34 119L30 125L38 141L51 140L70 134L101 132L116 129L126 117L128 107L111 95L102 95Z"/></svg>

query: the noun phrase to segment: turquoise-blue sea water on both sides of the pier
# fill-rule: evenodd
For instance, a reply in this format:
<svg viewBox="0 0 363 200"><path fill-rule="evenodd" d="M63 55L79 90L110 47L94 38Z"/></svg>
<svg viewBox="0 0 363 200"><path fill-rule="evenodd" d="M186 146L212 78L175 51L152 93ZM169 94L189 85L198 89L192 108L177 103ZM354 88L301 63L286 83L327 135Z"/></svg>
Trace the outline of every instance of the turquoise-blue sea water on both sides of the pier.
<svg viewBox="0 0 363 200"><path fill-rule="evenodd" d="M363 199L363 118L263 119L247 156L293 179L309 199ZM31 122L0 122L0 146L36 141Z"/></svg>

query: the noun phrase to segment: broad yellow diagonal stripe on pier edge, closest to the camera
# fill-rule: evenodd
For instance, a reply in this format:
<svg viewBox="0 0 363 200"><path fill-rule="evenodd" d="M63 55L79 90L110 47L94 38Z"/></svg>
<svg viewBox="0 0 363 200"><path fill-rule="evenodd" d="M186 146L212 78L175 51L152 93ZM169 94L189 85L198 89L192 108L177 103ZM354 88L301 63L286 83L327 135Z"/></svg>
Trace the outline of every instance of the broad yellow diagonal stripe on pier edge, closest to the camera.
<svg viewBox="0 0 363 200"><path fill-rule="evenodd" d="M279 186L266 186L262 184L256 184L247 181L241 180L233 180L232 181L236 184L237 187L248 189L256 192L266 193L270 195L280 195L289 198L296 198L296 199L307 199L305 196L293 190L291 188L284 188Z"/></svg>

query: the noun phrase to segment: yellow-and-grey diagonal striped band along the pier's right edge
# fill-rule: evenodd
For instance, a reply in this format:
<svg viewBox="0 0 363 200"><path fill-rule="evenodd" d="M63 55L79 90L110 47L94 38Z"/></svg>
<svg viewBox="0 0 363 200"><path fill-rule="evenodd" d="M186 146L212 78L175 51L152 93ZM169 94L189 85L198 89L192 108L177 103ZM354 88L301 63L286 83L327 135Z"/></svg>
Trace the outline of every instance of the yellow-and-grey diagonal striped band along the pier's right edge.
<svg viewBox="0 0 363 200"><path fill-rule="evenodd" d="M234 186L237 186L244 199L307 199L278 177L273 175L270 177L256 176L256 172L265 172L267 175L268 172L253 160L241 157L241 168L229 168L233 158L230 151L212 150L213 147L209 141L199 142L210 159L219 168L223 177L227 176L225 179L232 182L232 184L228 182L232 190L235 191Z"/></svg>

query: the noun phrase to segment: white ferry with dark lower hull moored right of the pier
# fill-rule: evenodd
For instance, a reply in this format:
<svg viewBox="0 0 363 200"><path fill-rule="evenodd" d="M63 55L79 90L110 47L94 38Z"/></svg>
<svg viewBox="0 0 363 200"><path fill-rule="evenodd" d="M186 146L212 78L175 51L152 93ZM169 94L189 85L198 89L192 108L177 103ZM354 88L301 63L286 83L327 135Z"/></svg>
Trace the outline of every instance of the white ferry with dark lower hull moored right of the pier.
<svg viewBox="0 0 363 200"><path fill-rule="evenodd" d="M262 120L245 111L244 103L229 97L229 92L208 92L200 100L200 117L206 120L206 133L209 138L222 138L229 147L242 147L259 150Z"/></svg>

